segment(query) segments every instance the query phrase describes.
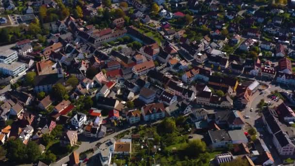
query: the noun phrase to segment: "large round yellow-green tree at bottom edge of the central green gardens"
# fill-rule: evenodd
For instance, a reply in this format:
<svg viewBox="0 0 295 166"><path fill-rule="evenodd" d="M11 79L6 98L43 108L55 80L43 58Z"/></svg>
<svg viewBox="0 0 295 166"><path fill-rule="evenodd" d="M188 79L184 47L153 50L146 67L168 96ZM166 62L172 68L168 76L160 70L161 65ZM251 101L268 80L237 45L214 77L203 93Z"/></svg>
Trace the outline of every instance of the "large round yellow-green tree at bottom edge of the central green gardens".
<svg viewBox="0 0 295 166"><path fill-rule="evenodd" d="M190 158L196 158L201 153L204 153L206 151L206 144L200 139L195 139L195 140L189 141L189 143L187 144L187 146L184 148L183 151L185 156L188 156Z"/></svg>

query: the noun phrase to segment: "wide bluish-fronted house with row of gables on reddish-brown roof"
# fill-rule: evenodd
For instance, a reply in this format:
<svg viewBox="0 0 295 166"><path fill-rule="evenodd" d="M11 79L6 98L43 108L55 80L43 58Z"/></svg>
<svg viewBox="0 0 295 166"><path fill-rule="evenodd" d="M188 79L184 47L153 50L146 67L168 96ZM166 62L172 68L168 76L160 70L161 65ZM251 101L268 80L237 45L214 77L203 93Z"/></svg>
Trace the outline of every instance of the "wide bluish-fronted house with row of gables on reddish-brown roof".
<svg viewBox="0 0 295 166"><path fill-rule="evenodd" d="M141 108L141 114L145 121L156 120L165 117L163 103L151 103Z"/></svg>

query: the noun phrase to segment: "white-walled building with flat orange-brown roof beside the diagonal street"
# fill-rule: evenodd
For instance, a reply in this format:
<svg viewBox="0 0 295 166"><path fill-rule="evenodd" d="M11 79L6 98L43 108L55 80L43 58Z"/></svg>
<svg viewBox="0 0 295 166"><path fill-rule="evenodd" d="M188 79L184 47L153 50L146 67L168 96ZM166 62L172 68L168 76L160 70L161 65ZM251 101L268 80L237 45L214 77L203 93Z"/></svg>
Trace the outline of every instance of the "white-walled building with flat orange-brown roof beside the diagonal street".
<svg viewBox="0 0 295 166"><path fill-rule="evenodd" d="M115 141L114 154L130 155L131 154L131 139L120 139Z"/></svg>

